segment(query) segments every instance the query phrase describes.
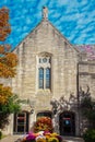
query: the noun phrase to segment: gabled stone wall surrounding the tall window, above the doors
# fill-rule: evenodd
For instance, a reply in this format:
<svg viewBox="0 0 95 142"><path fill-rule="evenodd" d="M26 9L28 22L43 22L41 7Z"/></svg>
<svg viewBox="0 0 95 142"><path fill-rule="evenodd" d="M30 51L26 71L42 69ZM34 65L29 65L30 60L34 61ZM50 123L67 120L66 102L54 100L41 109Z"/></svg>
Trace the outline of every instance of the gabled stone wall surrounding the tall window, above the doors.
<svg viewBox="0 0 95 142"><path fill-rule="evenodd" d="M41 23L16 47L17 73L12 87L21 98L36 99L36 110L51 109L50 99L76 95L78 51L47 21ZM37 57L51 55L51 90L38 90ZM43 104L43 105L41 105Z"/></svg>

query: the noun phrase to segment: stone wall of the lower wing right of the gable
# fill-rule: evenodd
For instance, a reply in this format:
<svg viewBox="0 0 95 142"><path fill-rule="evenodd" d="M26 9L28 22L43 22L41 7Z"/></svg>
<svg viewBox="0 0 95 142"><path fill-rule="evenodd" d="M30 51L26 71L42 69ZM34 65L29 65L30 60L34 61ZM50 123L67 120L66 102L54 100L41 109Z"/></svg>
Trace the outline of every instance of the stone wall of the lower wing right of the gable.
<svg viewBox="0 0 95 142"><path fill-rule="evenodd" d="M79 86L86 91L90 87L92 97L95 97L95 63L94 61L79 62Z"/></svg>

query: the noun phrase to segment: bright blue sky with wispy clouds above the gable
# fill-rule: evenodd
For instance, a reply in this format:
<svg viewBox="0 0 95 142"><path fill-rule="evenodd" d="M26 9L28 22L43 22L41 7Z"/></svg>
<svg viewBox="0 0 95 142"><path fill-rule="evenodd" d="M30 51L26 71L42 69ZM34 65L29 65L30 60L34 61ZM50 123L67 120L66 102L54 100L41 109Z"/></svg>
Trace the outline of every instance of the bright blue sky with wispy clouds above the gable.
<svg viewBox="0 0 95 142"><path fill-rule="evenodd" d="M10 9L12 32L4 43L12 48L40 22L41 8L49 21L73 45L95 45L95 0L1 0Z"/></svg>

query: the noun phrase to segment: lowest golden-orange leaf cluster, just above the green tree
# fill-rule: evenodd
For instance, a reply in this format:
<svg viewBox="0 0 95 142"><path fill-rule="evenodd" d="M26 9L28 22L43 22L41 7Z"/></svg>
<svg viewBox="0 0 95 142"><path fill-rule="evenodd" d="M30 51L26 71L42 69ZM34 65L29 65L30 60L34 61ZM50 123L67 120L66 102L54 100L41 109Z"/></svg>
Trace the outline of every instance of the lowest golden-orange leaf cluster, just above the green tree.
<svg viewBox="0 0 95 142"><path fill-rule="evenodd" d="M0 104L7 104L10 96L12 96L11 87L0 84Z"/></svg>

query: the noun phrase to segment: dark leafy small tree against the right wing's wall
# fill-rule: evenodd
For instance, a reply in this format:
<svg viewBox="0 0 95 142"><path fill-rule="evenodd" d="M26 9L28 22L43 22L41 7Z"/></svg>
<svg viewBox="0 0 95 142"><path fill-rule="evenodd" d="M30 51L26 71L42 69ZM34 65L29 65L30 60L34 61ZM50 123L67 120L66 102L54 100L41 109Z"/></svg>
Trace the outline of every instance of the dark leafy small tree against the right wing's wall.
<svg viewBox="0 0 95 142"><path fill-rule="evenodd" d="M95 99L92 98L88 86L86 92L80 88L80 109L88 120L88 127L95 129Z"/></svg>

